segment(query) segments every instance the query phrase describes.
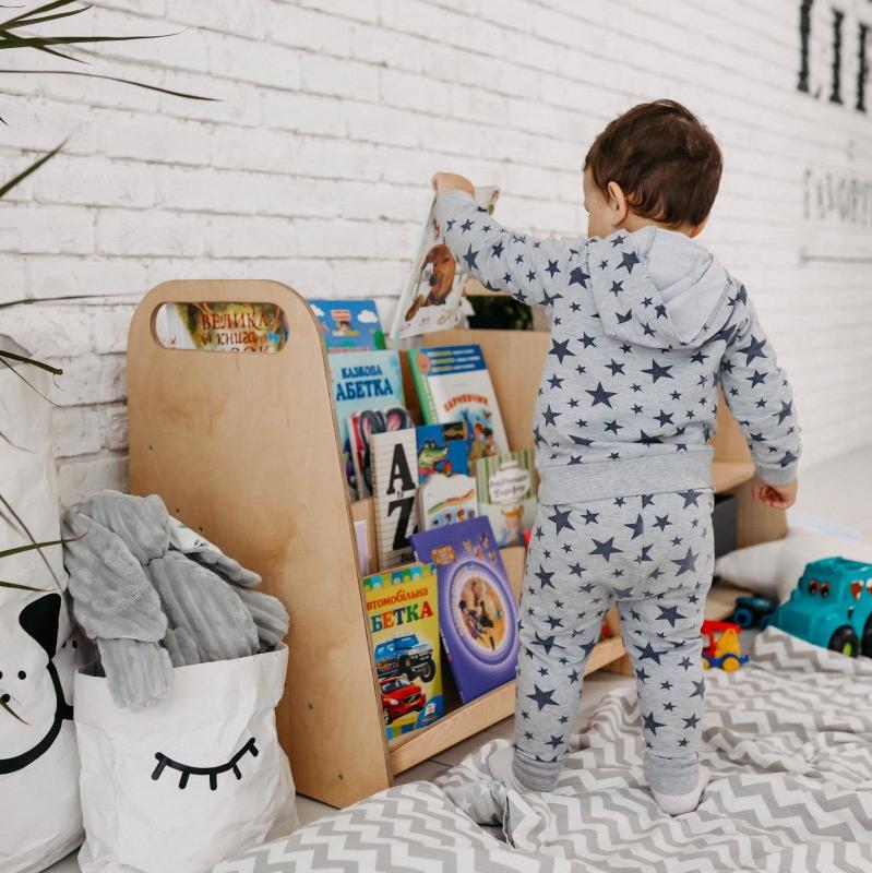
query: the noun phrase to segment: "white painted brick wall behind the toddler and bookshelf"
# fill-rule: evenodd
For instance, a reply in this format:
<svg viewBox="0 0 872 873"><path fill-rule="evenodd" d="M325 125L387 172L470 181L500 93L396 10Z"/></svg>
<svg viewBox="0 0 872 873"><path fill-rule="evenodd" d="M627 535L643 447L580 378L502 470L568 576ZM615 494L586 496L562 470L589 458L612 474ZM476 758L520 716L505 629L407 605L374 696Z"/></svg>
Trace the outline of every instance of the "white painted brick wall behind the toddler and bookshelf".
<svg viewBox="0 0 872 873"><path fill-rule="evenodd" d="M275 278L375 297L389 319L433 170L500 184L510 225L577 232L592 137L659 96L686 103L722 145L704 241L748 284L791 373L807 462L869 442L872 282L868 262L844 259L872 256L872 205L857 224L803 207L807 171L872 184L872 94L869 113L852 108L872 3L837 5L843 106L827 99L823 0L810 45L819 99L797 91L799 0L105 0L94 32L182 33L100 47L112 62L96 70L220 101L3 77L3 177L70 135L0 223L0 302L46 301L1 309L0 333L65 370L62 499L124 485L124 333L145 289ZM837 260L802 263L802 250ZM67 295L89 299L50 300Z"/></svg>

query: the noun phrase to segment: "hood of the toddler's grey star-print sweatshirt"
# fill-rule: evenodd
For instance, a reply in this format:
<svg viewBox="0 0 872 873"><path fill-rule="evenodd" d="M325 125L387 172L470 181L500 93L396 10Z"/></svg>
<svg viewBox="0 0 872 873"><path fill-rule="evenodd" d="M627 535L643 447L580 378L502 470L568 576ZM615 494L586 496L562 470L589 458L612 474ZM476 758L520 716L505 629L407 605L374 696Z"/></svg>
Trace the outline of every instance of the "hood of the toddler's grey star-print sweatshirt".
<svg viewBox="0 0 872 873"><path fill-rule="evenodd" d="M620 230L588 242L592 287L607 334L649 348L698 348L730 315L732 279L676 230Z"/></svg>

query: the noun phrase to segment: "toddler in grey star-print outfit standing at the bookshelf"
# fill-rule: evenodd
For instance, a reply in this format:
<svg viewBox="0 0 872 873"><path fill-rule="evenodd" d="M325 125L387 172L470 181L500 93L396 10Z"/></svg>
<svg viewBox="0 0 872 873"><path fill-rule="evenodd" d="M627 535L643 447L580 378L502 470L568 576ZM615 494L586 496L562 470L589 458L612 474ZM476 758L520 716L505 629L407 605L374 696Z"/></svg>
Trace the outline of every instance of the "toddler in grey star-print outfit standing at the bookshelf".
<svg viewBox="0 0 872 873"><path fill-rule="evenodd" d="M791 388L748 292L694 241L721 166L700 121L656 100L612 121L587 153L586 239L506 230L475 204L468 180L433 178L451 250L491 290L542 307L551 327L534 420L539 509L514 750L490 762L517 790L554 786L612 602L657 803L690 812L707 782L700 627L715 560L718 385L751 449L756 500L793 503L800 455Z"/></svg>

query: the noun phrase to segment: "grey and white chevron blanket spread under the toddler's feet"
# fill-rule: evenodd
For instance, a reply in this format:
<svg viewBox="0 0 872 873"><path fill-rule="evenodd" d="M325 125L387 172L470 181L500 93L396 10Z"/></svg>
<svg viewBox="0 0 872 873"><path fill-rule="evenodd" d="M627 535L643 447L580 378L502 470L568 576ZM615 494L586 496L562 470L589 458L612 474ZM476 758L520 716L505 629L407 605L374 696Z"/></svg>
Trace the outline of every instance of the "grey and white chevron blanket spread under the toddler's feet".
<svg viewBox="0 0 872 873"><path fill-rule="evenodd" d="M862 873L872 870L872 659L767 629L706 680L698 809L670 818L642 776L635 693L607 695L549 794L492 781L495 740L435 784L375 794L215 873Z"/></svg>

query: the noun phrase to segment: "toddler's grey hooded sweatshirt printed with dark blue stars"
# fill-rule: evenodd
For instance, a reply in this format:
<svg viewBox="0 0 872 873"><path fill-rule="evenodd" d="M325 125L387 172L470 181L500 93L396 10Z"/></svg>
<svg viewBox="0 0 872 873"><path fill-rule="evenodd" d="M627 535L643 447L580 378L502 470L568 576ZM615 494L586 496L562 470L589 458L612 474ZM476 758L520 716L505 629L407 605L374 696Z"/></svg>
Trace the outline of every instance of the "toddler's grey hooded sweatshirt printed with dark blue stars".
<svg viewBox="0 0 872 873"><path fill-rule="evenodd" d="M718 384L771 485L797 476L790 384L744 286L683 234L535 240L463 191L437 220L491 290L543 307L551 325L534 418L539 500L712 487Z"/></svg>

